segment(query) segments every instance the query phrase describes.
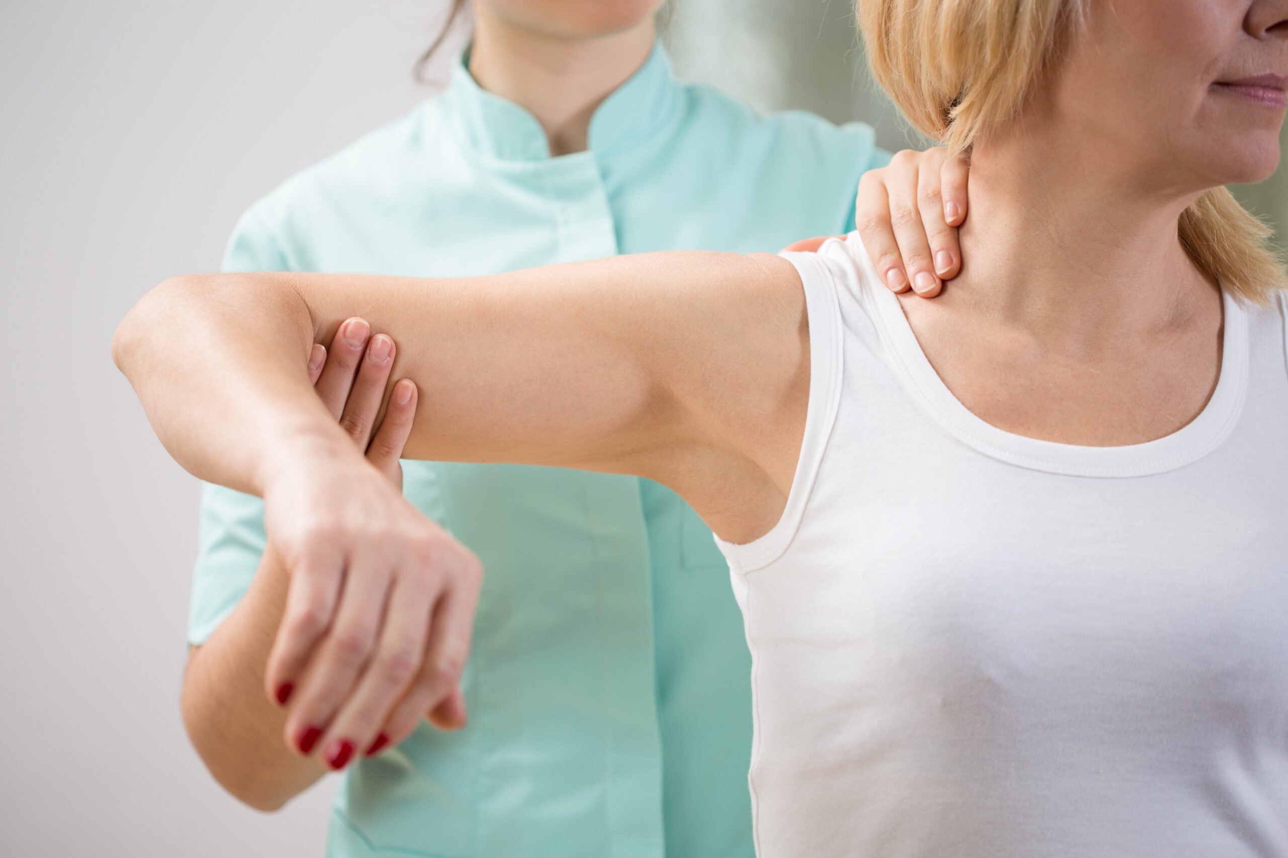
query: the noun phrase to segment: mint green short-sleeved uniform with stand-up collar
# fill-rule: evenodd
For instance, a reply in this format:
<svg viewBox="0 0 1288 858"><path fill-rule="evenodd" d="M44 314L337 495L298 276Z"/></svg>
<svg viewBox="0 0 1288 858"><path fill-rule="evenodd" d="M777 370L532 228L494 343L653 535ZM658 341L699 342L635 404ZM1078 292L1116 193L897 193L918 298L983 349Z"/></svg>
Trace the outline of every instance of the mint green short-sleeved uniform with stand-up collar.
<svg viewBox="0 0 1288 858"><path fill-rule="evenodd" d="M762 116L665 54L551 158L462 63L440 95L305 170L237 225L225 269L461 277L662 250L778 251L846 232L872 130ZM711 533L635 477L404 463L404 493L483 561L469 726L422 724L344 776L331 855L751 857L751 660ZM258 498L205 486L189 639L246 592Z"/></svg>

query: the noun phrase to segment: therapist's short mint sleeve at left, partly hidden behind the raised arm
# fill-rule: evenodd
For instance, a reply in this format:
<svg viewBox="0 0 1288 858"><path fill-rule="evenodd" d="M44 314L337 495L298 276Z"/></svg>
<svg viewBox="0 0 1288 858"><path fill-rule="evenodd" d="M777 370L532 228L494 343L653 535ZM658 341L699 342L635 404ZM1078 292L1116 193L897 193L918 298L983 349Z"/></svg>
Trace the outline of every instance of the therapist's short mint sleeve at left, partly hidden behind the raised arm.
<svg viewBox="0 0 1288 858"><path fill-rule="evenodd" d="M285 256L252 208L237 224L224 252L225 271L285 271ZM250 588L264 553L264 502L204 482L192 570L188 643L200 646Z"/></svg>

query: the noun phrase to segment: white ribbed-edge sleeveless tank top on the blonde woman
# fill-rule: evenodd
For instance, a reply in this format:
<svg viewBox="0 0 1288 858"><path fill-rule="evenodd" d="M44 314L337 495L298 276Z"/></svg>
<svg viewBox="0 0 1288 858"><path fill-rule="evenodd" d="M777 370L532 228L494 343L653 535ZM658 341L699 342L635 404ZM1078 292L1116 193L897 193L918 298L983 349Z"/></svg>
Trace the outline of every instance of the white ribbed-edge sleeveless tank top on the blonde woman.
<svg viewBox="0 0 1288 858"><path fill-rule="evenodd" d="M1225 298L1164 439L969 412L857 234L786 253L809 311L786 512L733 570L761 858L1288 857L1284 301Z"/></svg>

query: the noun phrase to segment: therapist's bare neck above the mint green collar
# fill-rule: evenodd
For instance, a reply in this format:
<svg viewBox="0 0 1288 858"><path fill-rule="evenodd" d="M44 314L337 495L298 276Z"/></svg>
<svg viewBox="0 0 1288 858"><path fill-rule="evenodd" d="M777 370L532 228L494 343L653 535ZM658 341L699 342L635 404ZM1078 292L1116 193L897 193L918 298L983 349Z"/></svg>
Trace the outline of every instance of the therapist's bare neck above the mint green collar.
<svg viewBox="0 0 1288 858"><path fill-rule="evenodd" d="M652 15L605 36L563 37L477 4L470 75L483 89L537 117L551 154L583 152L595 108L644 64L653 37Z"/></svg>

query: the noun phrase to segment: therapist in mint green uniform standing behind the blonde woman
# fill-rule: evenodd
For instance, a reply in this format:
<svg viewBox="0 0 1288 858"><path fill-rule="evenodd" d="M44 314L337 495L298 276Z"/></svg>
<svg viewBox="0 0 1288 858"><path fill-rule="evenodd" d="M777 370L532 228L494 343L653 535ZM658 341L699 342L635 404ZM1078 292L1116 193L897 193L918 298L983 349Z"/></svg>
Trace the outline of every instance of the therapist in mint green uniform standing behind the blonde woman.
<svg viewBox="0 0 1288 858"><path fill-rule="evenodd" d="M677 82L661 5L475 0L447 90L255 203L224 268L466 277L848 232L859 176L889 161L872 129ZM891 288L929 297L957 273L965 207L965 166L936 152L864 183L860 232ZM337 337L319 386L352 379L367 346ZM751 662L697 515L635 477L402 467L487 570L460 692L395 746L287 747L263 692L285 598L263 503L206 485L183 710L214 776L274 809L345 769L336 857L750 858Z"/></svg>

